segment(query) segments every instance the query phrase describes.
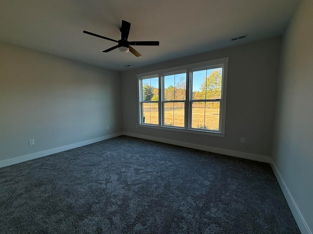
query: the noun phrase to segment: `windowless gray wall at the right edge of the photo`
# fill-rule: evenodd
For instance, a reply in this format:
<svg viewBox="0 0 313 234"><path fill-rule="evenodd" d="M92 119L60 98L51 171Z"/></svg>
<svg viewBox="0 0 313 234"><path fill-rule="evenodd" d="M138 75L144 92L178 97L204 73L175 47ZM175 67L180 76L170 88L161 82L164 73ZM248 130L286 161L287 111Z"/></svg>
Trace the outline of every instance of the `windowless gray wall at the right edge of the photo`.
<svg viewBox="0 0 313 234"><path fill-rule="evenodd" d="M300 3L285 32L282 44L273 160L313 232L312 0L303 0ZM282 189L284 191L285 188ZM290 201L288 192L285 196ZM290 206L294 207L291 201ZM296 213L294 210L294 214ZM295 217L302 228L301 231L307 233L299 216Z"/></svg>

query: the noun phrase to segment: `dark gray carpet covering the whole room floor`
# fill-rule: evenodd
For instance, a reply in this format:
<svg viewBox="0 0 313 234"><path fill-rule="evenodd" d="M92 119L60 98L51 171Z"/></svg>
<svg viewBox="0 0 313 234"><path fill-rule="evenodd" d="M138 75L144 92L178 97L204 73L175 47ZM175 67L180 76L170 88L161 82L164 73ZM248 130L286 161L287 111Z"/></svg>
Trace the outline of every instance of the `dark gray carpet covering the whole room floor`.
<svg viewBox="0 0 313 234"><path fill-rule="evenodd" d="M1 234L297 234L266 163L116 137L0 168Z"/></svg>

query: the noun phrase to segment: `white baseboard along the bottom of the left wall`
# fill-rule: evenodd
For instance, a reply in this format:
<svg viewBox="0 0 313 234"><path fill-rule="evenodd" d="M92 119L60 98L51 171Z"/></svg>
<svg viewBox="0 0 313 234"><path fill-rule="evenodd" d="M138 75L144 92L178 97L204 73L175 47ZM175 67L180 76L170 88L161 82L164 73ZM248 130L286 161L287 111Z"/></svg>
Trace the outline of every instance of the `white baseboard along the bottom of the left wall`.
<svg viewBox="0 0 313 234"><path fill-rule="evenodd" d="M85 141L81 141L81 142L77 142L77 143L73 143L70 145L65 145L65 146L60 146L57 148L53 148L53 149L49 149L49 150L44 150L44 151L40 151L40 152L36 152L36 153L32 153L29 155L23 155L23 156L18 156L18 157L13 157L13 158L9 158L9 159L5 159L0 161L0 168L1 167L6 167L6 166L10 166L13 164L17 164L20 162L24 162L24 161L28 161L31 159L35 159L38 157L43 157L43 156L48 156L48 155L52 155L52 154L56 154L62 151L66 151L66 150L70 150L70 149L74 149L77 147L81 147L84 145L89 145L92 143L96 143L102 140L107 140L113 137L118 137L121 136L122 133L115 133L115 134L111 134L111 135L107 135L104 137L98 137L98 138L94 138L94 139L90 139L90 140L85 140Z"/></svg>

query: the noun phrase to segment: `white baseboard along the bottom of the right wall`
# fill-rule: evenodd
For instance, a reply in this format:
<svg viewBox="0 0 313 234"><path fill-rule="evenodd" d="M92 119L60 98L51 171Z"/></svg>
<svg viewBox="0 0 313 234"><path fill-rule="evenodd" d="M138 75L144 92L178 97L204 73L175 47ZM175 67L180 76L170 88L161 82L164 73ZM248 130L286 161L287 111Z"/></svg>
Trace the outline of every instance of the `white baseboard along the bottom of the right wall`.
<svg viewBox="0 0 313 234"><path fill-rule="evenodd" d="M280 174L280 172L278 171L278 168L276 167L275 163L272 162L271 163L271 167L272 167L272 170L278 180L278 183L280 185L280 188L282 189L283 191L283 194L287 200L287 203L289 205L289 208L291 210L291 213L296 221L296 223L298 224L298 227L300 229L300 232L302 234L312 234L312 231L310 230L307 222L305 221L303 215L301 214L297 204L295 203L295 200L293 199L282 175Z"/></svg>

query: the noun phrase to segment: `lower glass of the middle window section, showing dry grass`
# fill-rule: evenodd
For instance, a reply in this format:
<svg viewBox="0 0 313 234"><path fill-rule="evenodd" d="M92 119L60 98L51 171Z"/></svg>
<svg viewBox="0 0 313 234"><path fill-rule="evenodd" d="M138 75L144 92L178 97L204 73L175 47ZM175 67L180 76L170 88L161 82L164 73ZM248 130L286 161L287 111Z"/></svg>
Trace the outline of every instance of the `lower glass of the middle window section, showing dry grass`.
<svg viewBox="0 0 313 234"><path fill-rule="evenodd" d="M164 125L184 127L185 125L185 103L164 103Z"/></svg>

